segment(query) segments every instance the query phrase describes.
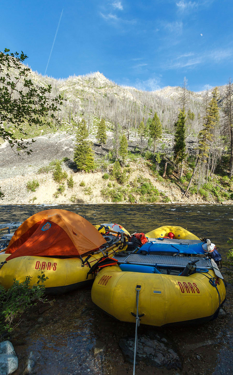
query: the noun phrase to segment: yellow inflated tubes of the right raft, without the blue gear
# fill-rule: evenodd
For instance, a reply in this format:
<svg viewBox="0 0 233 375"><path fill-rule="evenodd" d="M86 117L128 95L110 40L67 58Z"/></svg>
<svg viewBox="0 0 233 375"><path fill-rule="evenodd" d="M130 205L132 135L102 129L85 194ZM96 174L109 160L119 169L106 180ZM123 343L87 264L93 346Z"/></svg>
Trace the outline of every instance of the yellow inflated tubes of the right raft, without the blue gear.
<svg viewBox="0 0 233 375"><path fill-rule="evenodd" d="M162 226L146 236L155 239L164 237L169 232L173 232L176 239L191 240L190 243L200 242L197 236L179 226ZM137 254L130 256L135 258ZM143 255L141 257L143 258ZM147 257L153 255L144 256L145 263ZM200 260L205 262L203 257ZM174 259L174 256L163 256L164 262L170 258ZM187 259L187 264L189 258L176 257L176 261ZM149 260L148 262L150 263ZM164 326L171 323L202 323L212 320L218 315L225 300L225 285L222 279L216 277L210 261L206 261L206 264L210 265L208 270L203 269L202 272L192 273L188 277L123 271L118 265L106 267L99 271L95 278L92 301L118 320L135 323L136 294L139 290L138 314L142 324ZM147 269L151 269L149 266L151 264L146 266Z"/></svg>

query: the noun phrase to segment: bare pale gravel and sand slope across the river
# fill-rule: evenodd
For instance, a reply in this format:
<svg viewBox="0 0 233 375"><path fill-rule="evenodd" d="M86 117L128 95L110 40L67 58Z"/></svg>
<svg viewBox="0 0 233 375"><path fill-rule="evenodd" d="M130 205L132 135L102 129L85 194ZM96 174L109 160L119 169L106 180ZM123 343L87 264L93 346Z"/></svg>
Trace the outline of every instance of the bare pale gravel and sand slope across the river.
<svg viewBox="0 0 233 375"><path fill-rule="evenodd" d="M104 147L100 147L96 143L94 135L90 135L90 140L93 142L93 150L95 151L96 157L106 157L108 151L113 148L113 142L111 139L111 132L108 132L108 141ZM166 154L170 154L173 148L173 136L170 134L164 134L162 143L158 144L158 150L162 150ZM164 146L162 146L164 145ZM188 147L194 150L195 138L190 137ZM33 150L32 154L21 154L18 156L9 147L8 144L4 143L0 147L0 186L1 191L5 194L2 203L3 204L61 204L61 203L110 203L111 199L108 200L101 194L101 189L107 187L108 181L102 178L103 171L101 166L98 171L94 173L80 173L75 171L73 160L75 147L75 135L69 135L66 133L54 133L41 135L36 137L36 142L31 145ZM133 136L129 139L129 150L134 150L139 147L139 140ZM69 189L67 184L64 184L65 190L62 194L57 194L57 188L59 184L53 180L52 171L48 173L38 173L41 168L48 167L53 160L62 160L66 158L66 161L62 163L62 168L67 172L68 176L73 177L74 187ZM161 181L161 179L154 177L153 173L148 168L146 160L143 158L137 159L137 161L128 160L130 165L129 181L133 181L138 175L142 175L143 178L150 180L153 186L158 189L162 196L167 196L167 201L171 203L211 203L215 201L210 199L209 201L201 198L200 195L189 194L182 199L182 189L180 188L179 181L170 182L167 180ZM39 187L36 188L35 192L27 189L28 181L37 180ZM84 181L84 186L80 186L80 182ZM161 202L166 202L166 199ZM224 200L222 203L230 204L232 201ZM123 201L124 204L129 201ZM131 202L134 203L134 202ZM137 198L135 198L137 203ZM144 202L146 203L146 202Z"/></svg>

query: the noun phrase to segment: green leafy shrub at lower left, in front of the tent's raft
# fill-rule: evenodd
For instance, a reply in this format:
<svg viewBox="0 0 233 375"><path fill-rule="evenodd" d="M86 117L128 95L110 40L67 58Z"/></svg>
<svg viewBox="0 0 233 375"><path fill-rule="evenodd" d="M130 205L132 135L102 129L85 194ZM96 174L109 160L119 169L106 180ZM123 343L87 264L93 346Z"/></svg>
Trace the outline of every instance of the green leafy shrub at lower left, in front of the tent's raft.
<svg viewBox="0 0 233 375"><path fill-rule="evenodd" d="M30 285L31 279L32 276L26 276L23 282L14 279L8 290L0 285L0 335L11 332L20 322L15 323L15 318L20 317L26 309L35 306L38 301L47 301L44 299L44 282L48 278L44 272L38 275L36 284Z"/></svg>

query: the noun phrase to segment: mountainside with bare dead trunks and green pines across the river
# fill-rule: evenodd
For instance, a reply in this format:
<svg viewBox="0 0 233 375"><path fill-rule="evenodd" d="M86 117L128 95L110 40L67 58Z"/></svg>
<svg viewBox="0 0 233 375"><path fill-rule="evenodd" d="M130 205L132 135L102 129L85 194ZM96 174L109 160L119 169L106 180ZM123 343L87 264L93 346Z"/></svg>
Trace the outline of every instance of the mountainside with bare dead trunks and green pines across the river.
<svg viewBox="0 0 233 375"><path fill-rule="evenodd" d="M9 69L8 75L14 81L15 69ZM145 92L119 86L99 72L56 80L29 71L28 78L38 87L51 85L51 92L46 93L49 101L58 95L63 100L57 103L56 111L48 110L46 118L41 116L39 125L36 121L25 121L19 129L11 121L4 121L5 129L15 138L54 132L74 135L76 142L70 160L76 171L101 170L104 178L115 180L119 189L130 179L130 162L137 163L140 158L153 178L166 186L176 183L183 196L191 193L206 200L231 199L231 80L226 86L195 93L188 90L186 79L182 87ZM18 92L27 93L22 80L17 85ZM17 100L16 91L12 98ZM64 179L58 182L64 183ZM136 185L144 183L149 182L140 180ZM105 189L105 197L111 200L110 185ZM149 190L152 187L147 186ZM120 196L121 201L130 202L140 198L133 190Z"/></svg>

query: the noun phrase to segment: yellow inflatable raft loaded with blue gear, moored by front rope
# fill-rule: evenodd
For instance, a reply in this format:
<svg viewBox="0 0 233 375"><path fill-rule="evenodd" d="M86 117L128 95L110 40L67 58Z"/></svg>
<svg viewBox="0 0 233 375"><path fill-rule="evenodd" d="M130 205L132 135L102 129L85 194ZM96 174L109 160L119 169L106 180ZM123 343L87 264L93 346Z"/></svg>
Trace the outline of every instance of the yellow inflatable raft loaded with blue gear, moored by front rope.
<svg viewBox="0 0 233 375"><path fill-rule="evenodd" d="M116 255L117 265L99 271L92 301L120 321L140 318L152 326L215 318L225 301L215 245L179 226L162 226L146 237L140 249Z"/></svg>

